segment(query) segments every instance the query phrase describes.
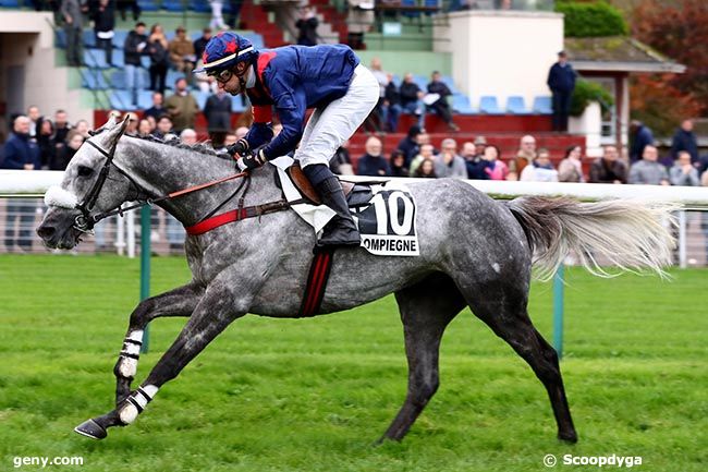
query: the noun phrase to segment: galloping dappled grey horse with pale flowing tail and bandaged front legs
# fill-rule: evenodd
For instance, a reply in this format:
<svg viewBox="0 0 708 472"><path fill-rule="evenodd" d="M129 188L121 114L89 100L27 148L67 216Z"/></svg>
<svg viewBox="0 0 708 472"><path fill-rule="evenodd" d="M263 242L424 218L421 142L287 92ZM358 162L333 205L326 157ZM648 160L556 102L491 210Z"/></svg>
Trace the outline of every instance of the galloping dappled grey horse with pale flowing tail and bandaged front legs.
<svg viewBox="0 0 708 472"><path fill-rule="evenodd" d="M111 119L76 153L61 187L47 193L50 208L37 229L47 246L75 246L87 218L125 202L156 199L234 173L233 161L224 156L123 136L124 125ZM266 166L252 173L245 205L281 198L273 169ZM160 206L188 227L228 201L236 185L223 183L162 201ZM670 263L672 245L661 223L666 208L541 197L504 204L448 179L412 181L408 187L417 202L420 255L338 250L321 305L322 313L333 313L395 293L405 332L408 388L382 439L402 439L438 389L440 339L452 318L469 306L541 380L559 438L576 441L558 356L526 311L532 264L549 274L574 251L590 270L601 271L591 254L603 254L622 268L661 273ZM187 237L192 281L147 299L133 311L114 367L115 409L75 431L103 438L108 427L133 423L159 388L246 313L296 317L315 242L313 229L292 210ZM160 316L188 320L145 382L131 390L143 330Z"/></svg>

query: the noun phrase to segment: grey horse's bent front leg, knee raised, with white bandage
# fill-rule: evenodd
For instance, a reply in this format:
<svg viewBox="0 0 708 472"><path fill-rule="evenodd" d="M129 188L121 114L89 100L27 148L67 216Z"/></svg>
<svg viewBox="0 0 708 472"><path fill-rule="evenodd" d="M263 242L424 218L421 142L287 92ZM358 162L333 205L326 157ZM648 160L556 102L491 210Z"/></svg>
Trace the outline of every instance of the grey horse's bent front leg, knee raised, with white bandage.
<svg viewBox="0 0 708 472"><path fill-rule="evenodd" d="M115 406L131 394L131 382L137 372L143 346L143 332L150 320L160 316L190 316L204 295L205 288L195 282L178 287L142 301L131 314L123 349L113 367L115 375Z"/></svg>

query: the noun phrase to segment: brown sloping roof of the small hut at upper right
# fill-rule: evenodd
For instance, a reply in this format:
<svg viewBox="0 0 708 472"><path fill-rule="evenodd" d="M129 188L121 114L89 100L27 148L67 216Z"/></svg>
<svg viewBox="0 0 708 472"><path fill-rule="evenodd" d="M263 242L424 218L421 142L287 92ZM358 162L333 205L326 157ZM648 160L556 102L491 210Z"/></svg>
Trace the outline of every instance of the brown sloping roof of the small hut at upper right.
<svg viewBox="0 0 708 472"><path fill-rule="evenodd" d="M628 36L565 38L565 50L578 71L673 72L686 66Z"/></svg>

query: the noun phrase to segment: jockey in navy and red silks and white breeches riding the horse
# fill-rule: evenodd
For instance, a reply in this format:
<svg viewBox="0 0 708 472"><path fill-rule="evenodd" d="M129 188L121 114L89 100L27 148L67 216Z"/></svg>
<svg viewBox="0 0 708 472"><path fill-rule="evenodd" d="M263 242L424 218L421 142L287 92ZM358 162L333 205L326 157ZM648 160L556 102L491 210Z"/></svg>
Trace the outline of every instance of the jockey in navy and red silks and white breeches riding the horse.
<svg viewBox="0 0 708 472"><path fill-rule="evenodd" d="M374 74L343 45L285 46L256 50L251 41L225 32L212 37L195 73L213 76L231 95L245 93L253 105L254 124L230 146L241 170L295 150L303 172L337 214L325 228L319 245L359 245L339 180L329 160L371 112L379 99ZM282 131L273 138L274 108ZM315 108L305 125L305 112ZM300 143L300 146L297 146Z"/></svg>

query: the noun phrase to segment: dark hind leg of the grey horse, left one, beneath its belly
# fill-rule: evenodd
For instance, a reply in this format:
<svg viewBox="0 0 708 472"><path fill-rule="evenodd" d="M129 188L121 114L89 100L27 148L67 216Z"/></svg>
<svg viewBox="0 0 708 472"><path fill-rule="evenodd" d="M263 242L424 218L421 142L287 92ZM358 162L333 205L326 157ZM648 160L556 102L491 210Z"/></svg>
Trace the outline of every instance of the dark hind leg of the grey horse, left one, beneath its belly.
<svg viewBox="0 0 708 472"><path fill-rule="evenodd" d="M381 438L403 439L439 385L438 352L445 327L465 306L452 279L436 273L395 293L405 335L408 391L405 403Z"/></svg>

